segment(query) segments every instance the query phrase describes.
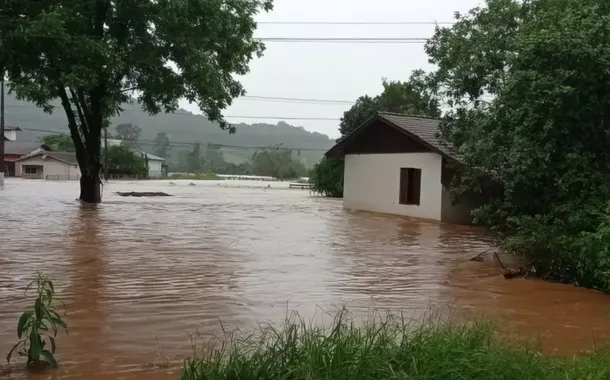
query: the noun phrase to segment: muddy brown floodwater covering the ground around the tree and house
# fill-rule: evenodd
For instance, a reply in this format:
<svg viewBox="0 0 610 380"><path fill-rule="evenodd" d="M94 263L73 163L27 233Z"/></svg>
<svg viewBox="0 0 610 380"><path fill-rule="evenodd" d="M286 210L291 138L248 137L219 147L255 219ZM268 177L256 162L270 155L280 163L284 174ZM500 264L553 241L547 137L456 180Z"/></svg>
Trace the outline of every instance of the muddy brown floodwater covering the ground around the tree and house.
<svg viewBox="0 0 610 380"><path fill-rule="evenodd" d="M480 229L343 210L341 202L247 181L116 182L104 203L78 184L8 180L0 191L0 353L16 339L36 271L65 303L61 367L44 375L0 365L8 379L176 379L189 334L252 328L286 310L306 318L346 305L419 316L430 307L485 315L570 354L610 342L606 296L505 280ZM115 191L165 191L123 198ZM3 377L3 378L4 378Z"/></svg>

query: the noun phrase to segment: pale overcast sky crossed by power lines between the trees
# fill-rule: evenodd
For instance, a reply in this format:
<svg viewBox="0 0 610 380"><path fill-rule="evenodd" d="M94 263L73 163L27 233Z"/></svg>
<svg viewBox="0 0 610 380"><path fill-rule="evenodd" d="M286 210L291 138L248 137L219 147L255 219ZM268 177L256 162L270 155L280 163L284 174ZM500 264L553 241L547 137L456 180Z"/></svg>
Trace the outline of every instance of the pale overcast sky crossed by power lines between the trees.
<svg viewBox="0 0 610 380"><path fill-rule="evenodd" d="M430 37L433 25L277 25L264 22L453 20L481 0L275 0L274 10L257 17L257 37ZM251 96L354 101L381 92L383 77L407 80L411 71L429 70L423 44L267 42L262 58L250 64L241 82ZM347 104L305 104L238 99L226 110L231 122L268 122L277 117L340 118ZM198 108L184 104L197 112ZM265 116L242 119L229 116ZM293 125L339 136L338 121L286 120Z"/></svg>

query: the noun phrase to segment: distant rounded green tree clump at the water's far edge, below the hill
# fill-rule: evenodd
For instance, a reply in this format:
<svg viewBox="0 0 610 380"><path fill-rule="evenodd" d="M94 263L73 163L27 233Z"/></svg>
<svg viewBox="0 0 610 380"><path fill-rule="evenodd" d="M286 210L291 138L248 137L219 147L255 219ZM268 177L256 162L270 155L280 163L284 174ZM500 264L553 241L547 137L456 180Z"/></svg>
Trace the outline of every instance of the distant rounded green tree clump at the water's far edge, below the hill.
<svg viewBox="0 0 610 380"><path fill-rule="evenodd" d="M307 175L307 169L290 149L280 146L256 151L252 155L252 174L278 179L294 179Z"/></svg>

